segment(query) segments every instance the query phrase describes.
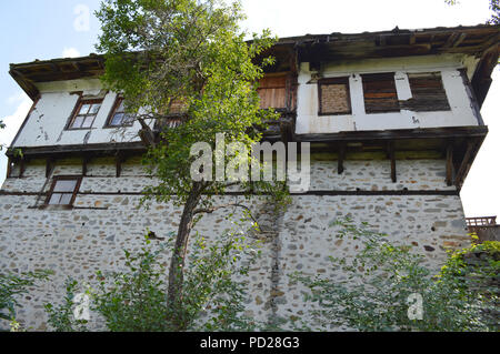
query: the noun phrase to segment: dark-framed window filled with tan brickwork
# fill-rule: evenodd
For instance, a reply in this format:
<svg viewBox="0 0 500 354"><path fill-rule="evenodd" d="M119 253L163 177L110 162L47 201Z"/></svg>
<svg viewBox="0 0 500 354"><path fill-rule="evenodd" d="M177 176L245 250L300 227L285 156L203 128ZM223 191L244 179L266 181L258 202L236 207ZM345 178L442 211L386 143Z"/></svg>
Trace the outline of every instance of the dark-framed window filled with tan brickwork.
<svg viewBox="0 0 500 354"><path fill-rule="evenodd" d="M351 114L349 78L318 81L319 114Z"/></svg>

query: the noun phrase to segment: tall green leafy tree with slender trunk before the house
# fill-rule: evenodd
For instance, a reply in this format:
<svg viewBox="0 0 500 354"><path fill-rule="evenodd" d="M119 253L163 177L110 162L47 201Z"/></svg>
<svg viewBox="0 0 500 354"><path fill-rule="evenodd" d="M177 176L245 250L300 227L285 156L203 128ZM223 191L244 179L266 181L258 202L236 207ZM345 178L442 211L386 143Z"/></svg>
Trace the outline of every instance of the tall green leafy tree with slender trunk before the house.
<svg viewBox="0 0 500 354"><path fill-rule="evenodd" d="M211 171L211 179L193 181L190 169L196 156L190 148L207 142L216 155L216 134L223 133L226 143L238 141L247 148L236 155L251 159L251 146L261 139L256 127L278 117L259 109L256 92L262 65L272 62L266 59L258 64L256 58L274 39L264 31L247 42L239 28L240 4L217 0L107 0L97 16L102 23L97 48L106 57L102 82L123 94L127 110L137 113L143 127L141 138L150 143L144 163L159 183L146 188L147 198L182 206L168 285L168 302L179 309L194 223L203 213L242 206L214 205L212 196L238 182L216 181ZM189 119L163 130L159 141L151 139L147 123L164 120L179 102ZM249 190L249 183L240 184ZM262 183L259 190L270 192L274 201L284 199L279 183Z"/></svg>

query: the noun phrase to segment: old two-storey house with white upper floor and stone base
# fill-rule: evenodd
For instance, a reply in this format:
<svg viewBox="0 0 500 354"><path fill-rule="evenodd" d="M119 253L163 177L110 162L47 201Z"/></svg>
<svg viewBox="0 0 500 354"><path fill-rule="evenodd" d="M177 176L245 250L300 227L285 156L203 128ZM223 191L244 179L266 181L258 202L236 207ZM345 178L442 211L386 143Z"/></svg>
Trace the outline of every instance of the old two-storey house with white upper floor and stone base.
<svg viewBox="0 0 500 354"><path fill-rule="evenodd" d="M276 236L263 242L250 272L249 313L264 321L307 315L288 276L328 275L329 255L356 252L352 240L336 240L336 218L413 244L432 266L446 249L468 244L459 192L488 133L480 107L499 38L490 26L396 28L283 38L272 48L277 62L259 93L262 108L282 119L264 139L310 142L311 181L292 193ZM96 54L10 67L33 105L11 144L22 156L9 151L0 191L0 267L56 272L22 300L19 318L32 330L47 328L42 304L61 299L68 275L92 281L97 270L118 269L122 249L139 247L147 227L161 236L178 226L173 205L136 208L154 180L140 164L141 125L119 95L102 90L103 68ZM153 138L181 117L151 123ZM249 203L266 219L260 198ZM223 213L204 216L197 230L221 234Z"/></svg>

